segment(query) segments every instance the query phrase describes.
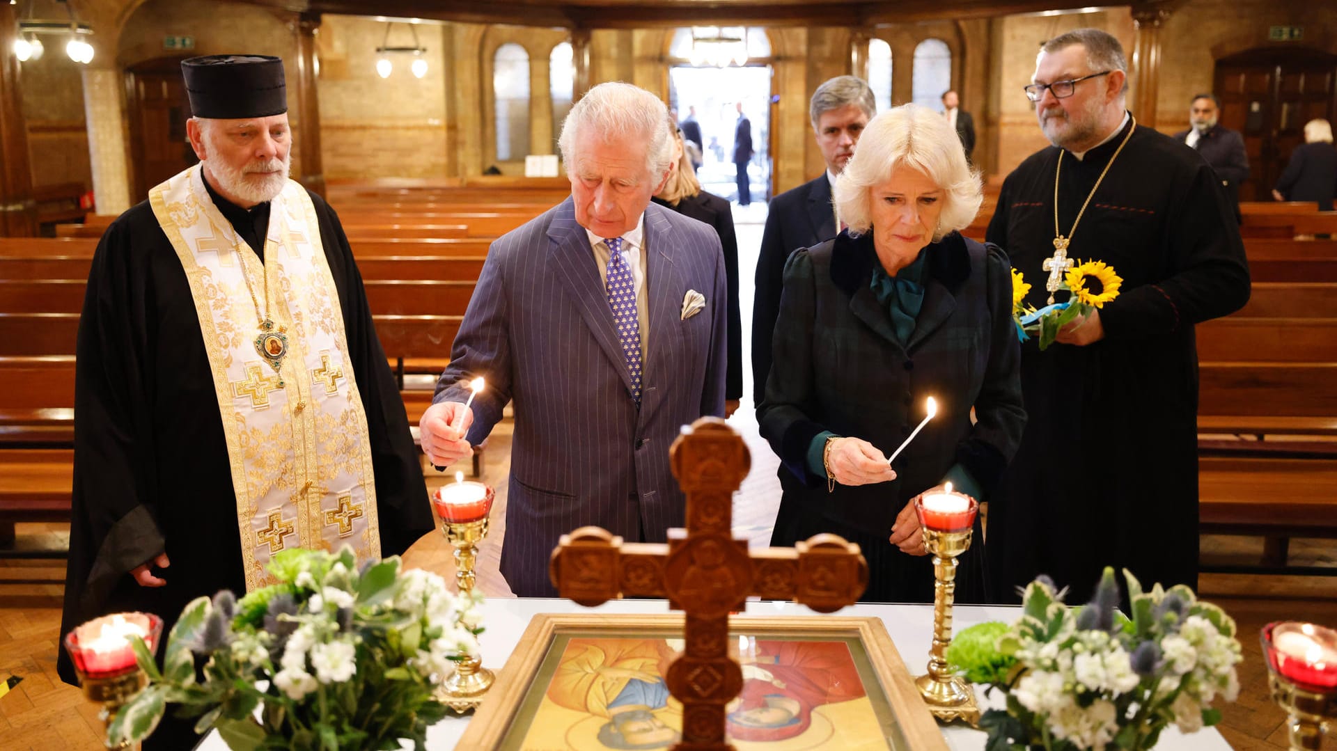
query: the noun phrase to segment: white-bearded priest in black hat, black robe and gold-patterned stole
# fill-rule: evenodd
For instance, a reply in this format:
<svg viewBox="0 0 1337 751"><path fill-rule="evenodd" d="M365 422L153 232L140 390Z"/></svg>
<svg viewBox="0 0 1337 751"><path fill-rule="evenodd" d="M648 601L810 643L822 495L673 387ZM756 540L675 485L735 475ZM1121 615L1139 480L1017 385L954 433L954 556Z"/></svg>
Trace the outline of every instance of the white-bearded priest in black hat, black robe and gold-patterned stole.
<svg viewBox="0 0 1337 751"><path fill-rule="evenodd" d="M338 216L287 179L282 60L182 72L201 162L122 214L88 274L62 633L118 611L170 627L194 597L269 584L279 551L365 560L432 529Z"/></svg>

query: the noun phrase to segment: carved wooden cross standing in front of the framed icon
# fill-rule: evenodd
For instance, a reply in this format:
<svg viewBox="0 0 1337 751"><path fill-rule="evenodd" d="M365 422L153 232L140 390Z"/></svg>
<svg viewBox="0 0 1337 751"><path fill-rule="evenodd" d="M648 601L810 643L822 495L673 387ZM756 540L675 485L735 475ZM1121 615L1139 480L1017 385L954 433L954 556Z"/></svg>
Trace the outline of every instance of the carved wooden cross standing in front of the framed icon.
<svg viewBox="0 0 1337 751"><path fill-rule="evenodd" d="M743 440L715 417L703 417L674 441L673 472L687 496L687 528L668 543L623 543L598 527L563 535L550 576L563 597L599 605L622 596L667 597L686 613L686 649L664 675L682 702L677 750L722 751L725 706L743 687L729 655L729 613L749 596L793 600L829 613L853 604L868 585L858 545L818 535L794 548L749 553L733 536L733 494L751 460Z"/></svg>

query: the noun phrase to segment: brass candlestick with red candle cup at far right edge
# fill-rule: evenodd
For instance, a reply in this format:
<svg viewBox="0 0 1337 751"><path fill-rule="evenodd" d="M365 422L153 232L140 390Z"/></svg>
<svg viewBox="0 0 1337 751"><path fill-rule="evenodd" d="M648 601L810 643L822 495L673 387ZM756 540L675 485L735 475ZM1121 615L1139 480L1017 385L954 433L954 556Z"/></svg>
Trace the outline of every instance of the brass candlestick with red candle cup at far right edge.
<svg viewBox="0 0 1337 751"><path fill-rule="evenodd" d="M1308 641L1305 651L1286 641ZM1324 732L1337 720L1337 631L1312 623L1270 623L1262 629L1271 699L1290 715L1288 738L1293 751L1318 751Z"/></svg>

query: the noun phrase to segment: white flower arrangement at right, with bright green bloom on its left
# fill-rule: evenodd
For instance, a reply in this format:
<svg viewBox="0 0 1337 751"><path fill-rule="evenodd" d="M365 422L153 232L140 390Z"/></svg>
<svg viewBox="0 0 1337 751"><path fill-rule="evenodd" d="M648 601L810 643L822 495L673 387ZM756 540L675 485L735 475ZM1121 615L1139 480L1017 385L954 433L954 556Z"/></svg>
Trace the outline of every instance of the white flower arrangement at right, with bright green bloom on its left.
<svg viewBox="0 0 1337 751"><path fill-rule="evenodd" d="M948 661L967 679L1007 694L1007 710L980 719L989 750L1146 750L1174 723L1215 724L1215 699L1234 702L1241 660L1235 624L1187 587L1143 592L1124 572L1132 616L1116 609L1114 569L1080 611L1042 577L1011 627L963 631Z"/></svg>

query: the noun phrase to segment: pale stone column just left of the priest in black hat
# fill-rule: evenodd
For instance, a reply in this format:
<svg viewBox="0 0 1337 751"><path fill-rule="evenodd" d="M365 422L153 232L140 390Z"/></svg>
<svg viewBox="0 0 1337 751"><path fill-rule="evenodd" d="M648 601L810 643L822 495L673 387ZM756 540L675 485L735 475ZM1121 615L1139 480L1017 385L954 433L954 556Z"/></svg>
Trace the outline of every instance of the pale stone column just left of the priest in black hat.
<svg viewBox="0 0 1337 751"><path fill-rule="evenodd" d="M106 65L114 65L104 53ZM98 56L94 57L98 60ZM124 78L115 67L84 67L84 120L88 128L88 163L98 214L130 208L130 163L126 160L126 124L122 108Z"/></svg>

